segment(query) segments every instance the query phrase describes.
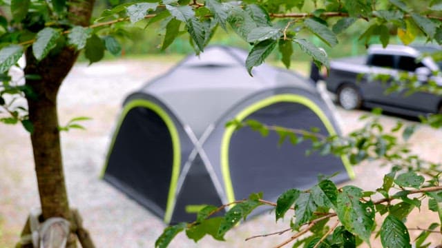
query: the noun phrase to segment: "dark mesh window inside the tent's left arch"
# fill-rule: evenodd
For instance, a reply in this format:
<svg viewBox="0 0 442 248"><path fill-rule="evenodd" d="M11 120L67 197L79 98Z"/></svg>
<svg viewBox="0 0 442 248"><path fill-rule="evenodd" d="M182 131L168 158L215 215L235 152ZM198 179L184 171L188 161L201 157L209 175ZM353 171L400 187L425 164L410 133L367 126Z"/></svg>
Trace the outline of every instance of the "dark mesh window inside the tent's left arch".
<svg viewBox="0 0 442 248"><path fill-rule="evenodd" d="M137 196L132 196L137 200L141 200L140 196L148 196L144 200L149 204L166 209L173 146L166 123L157 113L146 107L129 110L108 161L106 176L118 175L118 183L124 192L131 194L135 191Z"/></svg>

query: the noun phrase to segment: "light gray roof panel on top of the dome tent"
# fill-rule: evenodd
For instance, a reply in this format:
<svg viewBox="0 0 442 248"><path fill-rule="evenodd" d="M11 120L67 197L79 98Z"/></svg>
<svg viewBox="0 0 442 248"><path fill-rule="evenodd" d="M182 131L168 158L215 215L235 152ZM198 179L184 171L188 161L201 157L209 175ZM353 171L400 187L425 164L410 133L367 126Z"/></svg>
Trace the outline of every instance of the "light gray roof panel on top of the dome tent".
<svg viewBox="0 0 442 248"><path fill-rule="evenodd" d="M198 137L227 110L262 90L297 87L316 93L302 76L266 64L254 68L252 77L246 58L244 50L212 46L200 56L188 56L141 91L161 99Z"/></svg>

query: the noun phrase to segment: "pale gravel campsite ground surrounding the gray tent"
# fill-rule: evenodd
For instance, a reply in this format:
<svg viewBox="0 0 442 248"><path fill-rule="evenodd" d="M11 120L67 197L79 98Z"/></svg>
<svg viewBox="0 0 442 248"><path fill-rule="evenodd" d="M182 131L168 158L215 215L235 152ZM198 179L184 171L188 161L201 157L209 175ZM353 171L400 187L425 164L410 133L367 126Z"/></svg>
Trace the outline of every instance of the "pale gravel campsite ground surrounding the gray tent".
<svg viewBox="0 0 442 248"><path fill-rule="evenodd" d="M124 97L141 87L148 79L166 72L174 62L154 57L148 60L107 61L96 65L75 66L59 92L59 118L63 125L76 116L90 116L84 122L86 131L72 130L61 136L66 181L70 204L83 215L97 247L153 247L164 228L162 222L110 185L99 180L106 150ZM295 64L304 69L307 65ZM337 110L344 132L363 125L358 121L362 111ZM382 123L392 127L396 117L383 116ZM410 123L410 121L405 121ZM32 164L28 134L19 125L0 126L0 247L13 247L31 207L39 205L37 183ZM421 126L410 141L415 151L432 161L442 161L442 130ZM376 189L387 167L363 163L355 167L357 178L350 182L364 189ZM408 227L427 227L437 217L415 211ZM183 235L171 247L271 247L289 234L270 238L244 238L287 228L275 224L272 214L254 218L227 234L227 242L214 242L210 237L195 245ZM415 237L418 232L412 231ZM436 240L434 238L434 240ZM380 247L374 245L374 247Z"/></svg>

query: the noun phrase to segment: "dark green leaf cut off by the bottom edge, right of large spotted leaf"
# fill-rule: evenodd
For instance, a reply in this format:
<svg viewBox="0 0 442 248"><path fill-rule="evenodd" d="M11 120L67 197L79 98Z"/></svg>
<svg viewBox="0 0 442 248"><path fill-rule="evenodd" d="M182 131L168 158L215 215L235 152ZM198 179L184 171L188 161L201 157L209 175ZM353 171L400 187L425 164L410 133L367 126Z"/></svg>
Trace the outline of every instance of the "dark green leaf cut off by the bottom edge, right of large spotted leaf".
<svg viewBox="0 0 442 248"><path fill-rule="evenodd" d="M381 242L383 247L412 247L407 227L392 215L387 216L382 224Z"/></svg>

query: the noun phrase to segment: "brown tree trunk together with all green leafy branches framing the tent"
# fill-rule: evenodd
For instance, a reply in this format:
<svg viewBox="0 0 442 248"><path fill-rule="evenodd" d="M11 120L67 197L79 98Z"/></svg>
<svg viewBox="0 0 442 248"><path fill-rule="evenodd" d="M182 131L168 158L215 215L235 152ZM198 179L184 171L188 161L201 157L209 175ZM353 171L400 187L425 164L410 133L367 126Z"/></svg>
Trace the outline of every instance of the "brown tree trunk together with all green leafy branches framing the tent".
<svg viewBox="0 0 442 248"><path fill-rule="evenodd" d="M383 45L387 45L390 42L390 36L396 34L405 44L411 43L417 36L426 37L428 41L442 43L442 6L439 1L419 1L419 5L416 5L414 1L401 0L148 0L126 1L120 5L118 3L119 1L111 1L111 4L116 6L102 12L99 18L90 24L94 1L0 1L0 6L6 7L3 10L10 10L10 18L7 18L8 14L0 17L0 73L2 73L3 81L0 103L10 114L8 117L1 118L1 121L4 123L21 122L31 134L42 220L52 216L73 219L68 205L59 145L59 130L63 129L59 127L57 120L59 86L75 63L79 50L84 50L90 63L101 60L104 50L119 54L121 47L115 37L124 35L127 24L144 21L146 28L149 28L148 25L160 21L164 23L165 29L162 50L171 45L178 36L187 33L189 42L197 53L204 51L205 45L209 43L219 26L224 30L236 32L251 45L245 64L251 75L253 74L252 68L263 63L276 48L281 54L282 63L287 67L291 63L292 54L299 51L311 56L315 63L328 67L327 54L305 39L306 34L314 34L326 45L334 47L338 43L338 34L356 22L365 23L367 26L365 30L362 30L363 32L360 32L360 39L366 43L372 37L378 37ZM10 77L6 72L17 63L23 53L26 54L27 62L24 70L26 85L17 85L10 82ZM12 104L17 95L26 96L28 107ZM234 124L247 125L247 123ZM379 190L380 194L385 196L385 200L374 202L370 194L363 192L362 189L356 187L337 189L325 179L311 189L311 192L293 189L283 194L282 199L289 200L276 203L277 217L294 206L296 218L291 229L299 230L303 225L307 225L307 229L300 231L302 234L317 223L321 223L323 227L321 230L327 230L322 220L338 216L342 225L329 230L336 232L339 242L345 242L347 238L349 240L361 238L368 242L368 237L374 227L372 216L375 211L389 212L385 228L381 228L383 243L385 246L397 242L410 244L409 237L407 240L407 235L403 235L406 229L401 224L401 218L392 214L390 202L400 198L402 203L417 205L416 202L410 202L407 196L425 193L425 196L432 200L432 210L442 214L439 210L439 203L442 201L439 195L439 171L436 165L426 163L431 171L431 173L428 172L428 176L432 176L432 180L424 184L423 177L418 174L423 172L423 169L421 164L419 167L414 166L415 161L412 161L414 155L404 152L405 150L396 149L394 136L382 133L378 126L373 123L369 125L372 128L368 130L369 134L374 134L375 137L373 140L365 137L365 134L354 134L349 139L329 137L323 140L318 139L314 133L305 132L302 135L313 141L314 149L336 154L350 153L350 158L354 163L366 158L383 158L390 162L394 159L400 160L402 167L395 170L400 172L405 169L407 172L385 177L385 185ZM271 129L265 125L260 125L258 129L262 128ZM398 127L396 132L401 128ZM278 132L282 137L296 135L292 130L282 131ZM405 137L411 133L412 128L403 129ZM383 145L379 147L379 144ZM402 193L390 196L389 190L393 185L400 187ZM412 191L410 187L415 187L416 191ZM421 189L422 187L424 189ZM313 192L319 195L316 196ZM262 196L259 195L252 195L249 200L238 202L229 211L231 214L228 213L222 219L229 224L218 222L218 232L211 235L215 238L222 238L240 218L247 216L251 209L264 203ZM349 205L352 207L343 207ZM381 205L384 207L380 207ZM327 218L316 218L316 215L313 215L315 211L318 211L318 207ZM166 246L178 231L184 229L191 233L189 236L191 238L192 231L193 234L196 232L198 237L204 236L206 230L198 229L198 227L202 226L202 223L213 221L211 218L206 218L215 211L213 207L208 207L200 214L197 222L169 227L164 236L158 240L157 245ZM240 214L235 215L236 211ZM397 231L397 236L385 237L386 233L382 230L390 230L390 227L396 228L394 230ZM320 244L325 243L329 235L332 235L332 231L319 232L318 234L322 235L319 239L317 236L312 236L311 240L316 239L313 246L319 247ZM296 235L293 239L298 237ZM199 239L195 236L193 238ZM313 242L311 240L309 242ZM356 241L351 242L351 244L355 243ZM74 242L70 242L70 245L73 246Z"/></svg>

